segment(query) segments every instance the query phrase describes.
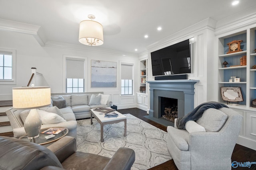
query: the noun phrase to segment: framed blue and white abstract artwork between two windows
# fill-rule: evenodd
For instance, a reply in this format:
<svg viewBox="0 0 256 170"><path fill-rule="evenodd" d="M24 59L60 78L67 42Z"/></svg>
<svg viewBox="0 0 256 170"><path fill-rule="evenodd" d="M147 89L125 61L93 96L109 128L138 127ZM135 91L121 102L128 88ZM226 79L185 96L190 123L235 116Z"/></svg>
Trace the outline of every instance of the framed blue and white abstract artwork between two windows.
<svg viewBox="0 0 256 170"><path fill-rule="evenodd" d="M117 63L92 60L91 87L116 87Z"/></svg>

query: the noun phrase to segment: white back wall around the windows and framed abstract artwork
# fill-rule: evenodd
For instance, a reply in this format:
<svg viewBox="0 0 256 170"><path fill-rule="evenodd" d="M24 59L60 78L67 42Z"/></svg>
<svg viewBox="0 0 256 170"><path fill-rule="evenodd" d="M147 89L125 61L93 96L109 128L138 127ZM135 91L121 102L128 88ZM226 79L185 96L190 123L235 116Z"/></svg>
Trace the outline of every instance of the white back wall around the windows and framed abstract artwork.
<svg viewBox="0 0 256 170"><path fill-rule="evenodd" d="M70 47L54 47L46 45L42 47L32 35L14 31L0 30L0 48L16 50L16 85L0 85L0 100L12 100L12 87L26 86L31 76L31 67L36 67L37 72L43 74L46 82L51 86L52 93L65 92L63 81L63 55L84 57L87 59L86 91L104 92L110 94L113 104L118 109L135 107L134 96L120 96L120 63L134 63L134 80L138 79L138 57L122 56L113 53L102 53L74 49ZM92 47L94 48L94 47ZM91 88L91 60L111 61L117 63L117 87L116 88ZM138 82L134 82L138 87ZM138 92L135 88L135 93Z"/></svg>

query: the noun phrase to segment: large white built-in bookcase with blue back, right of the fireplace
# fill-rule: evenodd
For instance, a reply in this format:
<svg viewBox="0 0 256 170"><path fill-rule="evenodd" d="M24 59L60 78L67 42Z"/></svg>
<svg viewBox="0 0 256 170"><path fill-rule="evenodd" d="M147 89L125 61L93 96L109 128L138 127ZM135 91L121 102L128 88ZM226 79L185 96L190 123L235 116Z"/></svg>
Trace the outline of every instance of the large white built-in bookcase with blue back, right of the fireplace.
<svg viewBox="0 0 256 170"><path fill-rule="evenodd" d="M238 144L256 150L256 107L252 105L252 100L256 98L256 69L253 67L256 65L256 27L254 25L217 38L218 101L227 104L222 100L221 87L240 87L243 102L239 102L239 106L228 106L243 115ZM228 43L238 40L242 40L242 51L228 53ZM232 82L232 76L240 78L240 81Z"/></svg>

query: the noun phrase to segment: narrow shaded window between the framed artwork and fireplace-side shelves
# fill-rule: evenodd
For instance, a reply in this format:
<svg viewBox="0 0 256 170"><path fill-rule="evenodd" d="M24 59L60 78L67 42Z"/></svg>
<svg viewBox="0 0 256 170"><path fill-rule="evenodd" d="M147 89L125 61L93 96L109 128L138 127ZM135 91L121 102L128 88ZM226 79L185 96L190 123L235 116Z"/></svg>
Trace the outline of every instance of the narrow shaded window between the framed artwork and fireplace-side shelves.
<svg viewBox="0 0 256 170"><path fill-rule="evenodd" d="M121 96L133 95L133 65L121 64Z"/></svg>

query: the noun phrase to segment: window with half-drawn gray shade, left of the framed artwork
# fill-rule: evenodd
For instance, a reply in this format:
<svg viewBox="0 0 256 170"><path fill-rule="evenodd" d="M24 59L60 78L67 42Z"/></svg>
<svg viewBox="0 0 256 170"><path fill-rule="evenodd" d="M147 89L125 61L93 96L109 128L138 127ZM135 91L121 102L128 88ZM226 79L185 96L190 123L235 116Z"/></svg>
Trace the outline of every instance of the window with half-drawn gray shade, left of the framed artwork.
<svg viewBox="0 0 256 170"><path fill-rule="evenodd" d="M84 59L66 58L66 93L84 92Z"/></svg>

